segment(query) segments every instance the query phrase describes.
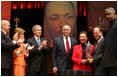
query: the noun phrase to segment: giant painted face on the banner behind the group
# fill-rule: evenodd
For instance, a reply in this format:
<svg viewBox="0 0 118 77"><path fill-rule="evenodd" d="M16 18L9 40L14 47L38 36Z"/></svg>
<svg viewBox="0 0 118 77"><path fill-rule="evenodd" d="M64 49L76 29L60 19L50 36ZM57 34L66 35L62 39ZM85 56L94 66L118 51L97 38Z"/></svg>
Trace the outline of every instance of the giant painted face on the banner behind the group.
<svg viewBox="0 0 118 77"><path fill-rule="evenodd" d="M73 32L76 25L75 11L68 1L49 2L45 8L44 24L53 39L62 35L62 26L69 25Z"/></svg>

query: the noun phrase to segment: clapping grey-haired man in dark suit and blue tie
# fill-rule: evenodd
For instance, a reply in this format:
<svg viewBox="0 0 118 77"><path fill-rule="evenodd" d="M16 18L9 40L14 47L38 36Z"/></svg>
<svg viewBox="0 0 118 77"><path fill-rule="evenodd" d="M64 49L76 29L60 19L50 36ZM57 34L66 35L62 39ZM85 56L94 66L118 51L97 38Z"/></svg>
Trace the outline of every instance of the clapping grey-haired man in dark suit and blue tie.
<svg viewBox="0 0 118 77"><path fill-rule="evenodd" d="M26 41L31 45L35 45L35 48L29 51L28 75L45 76L47 75L46 54L49 53L49 45L46 39L40 37L42 33L40 25L34 25L32 31L34 36Z"/></svg>

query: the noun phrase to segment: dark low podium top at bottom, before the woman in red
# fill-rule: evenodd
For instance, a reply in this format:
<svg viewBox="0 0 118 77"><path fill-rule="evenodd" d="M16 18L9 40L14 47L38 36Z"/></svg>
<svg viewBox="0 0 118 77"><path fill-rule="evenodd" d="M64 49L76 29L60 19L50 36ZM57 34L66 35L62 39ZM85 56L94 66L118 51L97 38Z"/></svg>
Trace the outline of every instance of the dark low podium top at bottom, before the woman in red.
<svg viewBox="0 0 118 77"><path fill-rule="evenodd" d="M56 76L92 76L92 74L86 70L64 70L57 71Z"/></svg>

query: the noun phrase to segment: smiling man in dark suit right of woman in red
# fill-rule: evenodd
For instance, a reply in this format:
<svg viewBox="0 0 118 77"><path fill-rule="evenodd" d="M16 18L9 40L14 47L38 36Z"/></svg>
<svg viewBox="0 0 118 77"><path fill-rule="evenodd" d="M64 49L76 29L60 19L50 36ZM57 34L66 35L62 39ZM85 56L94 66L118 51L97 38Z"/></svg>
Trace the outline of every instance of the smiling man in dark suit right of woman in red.
<svg viewBox="0 0 118 77"><path fill-rule="evenodd" d="M93 54L93 74L95 76L105 75L105 71L101 66L103 52L101 51L101 46L104 41L103 33L100 26L94 27L93 36L96 39L95 49Z"/></svg>

